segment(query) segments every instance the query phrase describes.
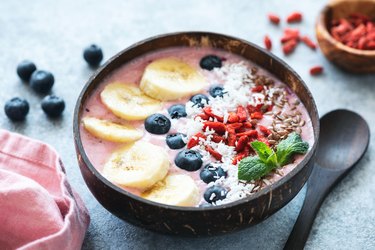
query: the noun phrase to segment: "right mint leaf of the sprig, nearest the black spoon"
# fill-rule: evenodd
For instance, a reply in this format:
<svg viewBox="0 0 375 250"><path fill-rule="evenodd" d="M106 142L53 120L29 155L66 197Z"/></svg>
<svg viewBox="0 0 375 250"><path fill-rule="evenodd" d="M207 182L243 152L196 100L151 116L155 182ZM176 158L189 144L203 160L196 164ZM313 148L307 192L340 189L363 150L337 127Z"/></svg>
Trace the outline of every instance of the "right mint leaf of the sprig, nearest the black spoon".
<svg viewBox="0 0 375 250"><path fill-rule="evenodd" d="M305 154L308 149L309 144L302 141L299 134L293 132L277 145L277 162L280 166L284 166L291 161L294 154Z"/></svg>

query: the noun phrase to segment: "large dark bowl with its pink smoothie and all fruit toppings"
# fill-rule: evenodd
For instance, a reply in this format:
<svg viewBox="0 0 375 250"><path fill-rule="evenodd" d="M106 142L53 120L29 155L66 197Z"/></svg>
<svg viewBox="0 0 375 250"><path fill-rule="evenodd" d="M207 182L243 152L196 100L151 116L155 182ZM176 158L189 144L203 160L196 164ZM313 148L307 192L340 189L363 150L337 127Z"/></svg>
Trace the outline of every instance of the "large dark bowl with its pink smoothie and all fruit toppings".
<svg viewBox="0 0 375 250"><path fill-rule="evenodd" d="M231 232L276 212L306 182L318 133L311 93L289 66L208 32L120 52L90 78L74 114L95 198L171 234Z"/></svg>

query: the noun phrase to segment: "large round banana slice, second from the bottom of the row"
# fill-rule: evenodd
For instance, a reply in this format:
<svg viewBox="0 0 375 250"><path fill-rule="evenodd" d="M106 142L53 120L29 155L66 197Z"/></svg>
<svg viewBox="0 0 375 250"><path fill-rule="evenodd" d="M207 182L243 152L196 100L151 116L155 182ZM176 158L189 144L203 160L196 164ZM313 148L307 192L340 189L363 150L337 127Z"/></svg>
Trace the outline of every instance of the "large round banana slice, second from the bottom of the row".
<svg viewBox="0 0 375 250"><path fill-rule="evenodd" d="M162 147L138 141L115 151L103 176L121 186L146 189L162 180L168 169L168 154Z"/></svg>

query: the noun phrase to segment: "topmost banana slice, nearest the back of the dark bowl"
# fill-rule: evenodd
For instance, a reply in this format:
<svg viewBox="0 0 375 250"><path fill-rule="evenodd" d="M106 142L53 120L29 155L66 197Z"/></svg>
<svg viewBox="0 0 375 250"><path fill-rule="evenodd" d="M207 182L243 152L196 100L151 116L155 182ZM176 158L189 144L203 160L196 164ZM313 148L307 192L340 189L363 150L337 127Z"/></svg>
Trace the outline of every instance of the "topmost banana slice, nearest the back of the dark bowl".
<svg viewBox="0 0 375 250"><path fill-rule="evenodd" d="M176 58L162 58L146 67L140 88L155 99L171 101L196 94L206 85L203 76L190 65Z"/></svg>

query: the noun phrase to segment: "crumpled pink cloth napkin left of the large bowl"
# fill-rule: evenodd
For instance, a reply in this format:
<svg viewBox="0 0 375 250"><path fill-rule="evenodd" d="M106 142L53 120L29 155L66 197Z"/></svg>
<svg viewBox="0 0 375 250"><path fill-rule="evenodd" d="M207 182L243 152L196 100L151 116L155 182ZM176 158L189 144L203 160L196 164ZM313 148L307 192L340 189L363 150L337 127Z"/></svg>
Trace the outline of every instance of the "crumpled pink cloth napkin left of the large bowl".
<svg viewBox="0 0 375 250"><path fill-rule="evenodd" d="M80 249L89 222L56 151L0 129L0 249Z"/></svg>

